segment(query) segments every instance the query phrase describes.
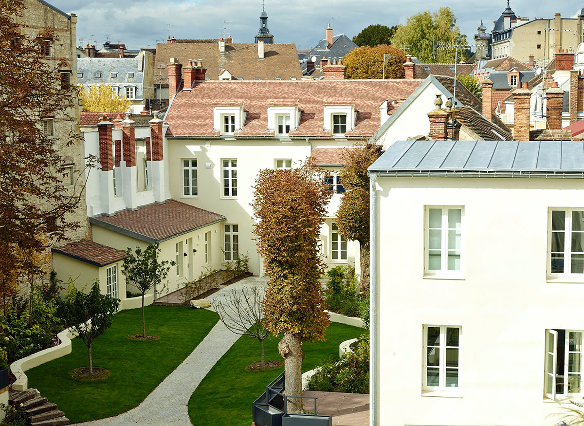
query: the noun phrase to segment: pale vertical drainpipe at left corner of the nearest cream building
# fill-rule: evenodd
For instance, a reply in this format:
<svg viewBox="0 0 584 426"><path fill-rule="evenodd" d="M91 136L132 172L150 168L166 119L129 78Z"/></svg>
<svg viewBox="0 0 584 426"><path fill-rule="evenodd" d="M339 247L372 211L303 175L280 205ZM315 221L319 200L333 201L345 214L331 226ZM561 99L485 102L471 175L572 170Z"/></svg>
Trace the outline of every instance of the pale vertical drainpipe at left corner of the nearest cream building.
<svg viewBox="0 0 584 426"><path fill-rule="evenodd" d="M377 426L377 175L369 175L369 425Z"/></svg>

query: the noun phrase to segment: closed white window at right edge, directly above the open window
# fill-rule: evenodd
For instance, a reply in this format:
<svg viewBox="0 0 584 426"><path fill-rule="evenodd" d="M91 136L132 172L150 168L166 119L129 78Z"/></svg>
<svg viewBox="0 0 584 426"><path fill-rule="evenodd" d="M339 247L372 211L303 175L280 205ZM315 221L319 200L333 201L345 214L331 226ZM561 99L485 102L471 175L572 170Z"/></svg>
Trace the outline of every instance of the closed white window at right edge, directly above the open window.
<svg viewBox="0 0 584 426"><path fill-rule="evenodd" d="M552 209L548 220L548 275L584 278L584 209Z"/></svg>

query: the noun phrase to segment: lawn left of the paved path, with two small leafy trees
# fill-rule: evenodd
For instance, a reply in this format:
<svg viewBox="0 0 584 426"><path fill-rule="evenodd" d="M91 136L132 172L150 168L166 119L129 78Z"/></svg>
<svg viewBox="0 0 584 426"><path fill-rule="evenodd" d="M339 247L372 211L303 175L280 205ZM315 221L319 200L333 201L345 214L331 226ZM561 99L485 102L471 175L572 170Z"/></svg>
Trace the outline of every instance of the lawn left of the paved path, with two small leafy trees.
<svg viewBox="0 0 584 426"><path fill-rule="evenodd" d="M87 366L87 348L72 340L67 356L28 370L29 387L58 405L72 423L110 417L137 406L203 340L217 323L213 311L190 307L147 306L146 333L157 341L134 341L142 333L141 309L121 311L92 345L93 366L112 371L106 380L73 379L69 371Z"/></svg>

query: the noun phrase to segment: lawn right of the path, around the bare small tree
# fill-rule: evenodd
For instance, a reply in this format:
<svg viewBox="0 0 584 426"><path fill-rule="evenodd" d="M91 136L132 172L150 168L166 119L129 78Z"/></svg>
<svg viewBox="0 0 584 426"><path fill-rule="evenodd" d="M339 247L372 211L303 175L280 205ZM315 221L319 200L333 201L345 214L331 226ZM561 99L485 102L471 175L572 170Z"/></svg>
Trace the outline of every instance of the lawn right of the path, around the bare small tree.
<svg viewBox="0 0 584 426"><path fill-rule="evenodd" d="M339 344L356 338L362 328L335 324L326 330L326 342L305 342L302 370L311 370L331 356L339 356ZM265 341L266 359L282 359L278 353L279 339ZM259 361L259 342L243 336L223 355L203 379L189 400L189 417L193 424L201 419L213 419L213 424L249 426L252 421L252 402L282 369L246 371L245 367Z"/></svg>

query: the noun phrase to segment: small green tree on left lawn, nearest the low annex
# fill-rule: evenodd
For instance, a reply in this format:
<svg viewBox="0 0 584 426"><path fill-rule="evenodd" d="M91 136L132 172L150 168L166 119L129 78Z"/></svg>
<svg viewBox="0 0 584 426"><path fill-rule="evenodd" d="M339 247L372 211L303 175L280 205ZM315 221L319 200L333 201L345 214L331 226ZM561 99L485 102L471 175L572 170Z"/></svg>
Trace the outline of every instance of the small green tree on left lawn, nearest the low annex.
<svg viewBox="0 0 584 426"><path fill-rule="evenodd" d="M127 258L121 265L121 271L126 275L126 283L138 289L142 295L142 337L146 337L146 322L144 320L144 295L156 288L166 279L171 266L176 265L175 261L158 261L160 249L158 244L150 244L144 250L135 248L135 255L132 249L126 250Z"/></svg>

